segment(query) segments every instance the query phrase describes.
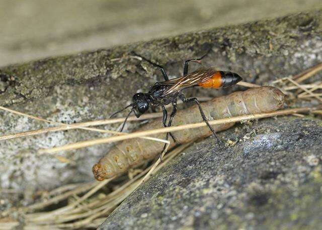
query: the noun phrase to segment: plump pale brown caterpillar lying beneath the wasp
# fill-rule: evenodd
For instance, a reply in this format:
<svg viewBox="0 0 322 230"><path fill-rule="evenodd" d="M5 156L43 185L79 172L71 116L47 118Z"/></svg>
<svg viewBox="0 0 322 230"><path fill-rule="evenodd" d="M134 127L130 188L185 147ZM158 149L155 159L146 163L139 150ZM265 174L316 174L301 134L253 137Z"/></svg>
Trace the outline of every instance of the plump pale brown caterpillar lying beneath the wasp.
<svg viewBox="0 0 322 230"><path fill-rule="evenodd" d="M216 97L201 103L208 120L223 119L245 114L272 112L284 104L284 94L281 90L271 86L251 88L246 91L233 92L227 96ZM162 128L162 119L156 119L138 131ZM202 122L197 105L179 110L174 118L173 126ZM226 130L234 123L212 126L215 132ZM188 143L212 134L208 127L177 131L174 133L176 142L171 138L169 148ZM166 134L153 137L164 139ZM164 144L146 139L129 139L116 144L92 168L97 180L111 178L127 171L130 167L139 165L146 160L153 159L163 149Z"/></svg>

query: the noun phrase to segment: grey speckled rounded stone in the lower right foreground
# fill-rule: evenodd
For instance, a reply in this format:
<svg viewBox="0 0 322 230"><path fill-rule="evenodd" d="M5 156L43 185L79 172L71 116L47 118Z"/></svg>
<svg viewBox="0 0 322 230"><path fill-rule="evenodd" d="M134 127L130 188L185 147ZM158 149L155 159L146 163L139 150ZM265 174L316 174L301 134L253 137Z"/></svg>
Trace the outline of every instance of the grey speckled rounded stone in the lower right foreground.
<svg viewBox="0 0 322 230"><path fill-rule="evenodd" d="M287 124L287 126L285 125ZM133 192L102 229L318 229L322 122L283 117L202 141Z"/></svg>

